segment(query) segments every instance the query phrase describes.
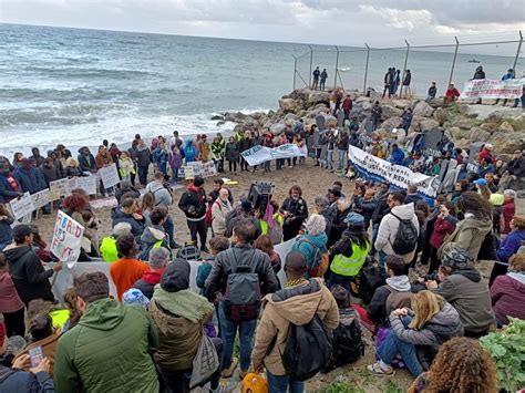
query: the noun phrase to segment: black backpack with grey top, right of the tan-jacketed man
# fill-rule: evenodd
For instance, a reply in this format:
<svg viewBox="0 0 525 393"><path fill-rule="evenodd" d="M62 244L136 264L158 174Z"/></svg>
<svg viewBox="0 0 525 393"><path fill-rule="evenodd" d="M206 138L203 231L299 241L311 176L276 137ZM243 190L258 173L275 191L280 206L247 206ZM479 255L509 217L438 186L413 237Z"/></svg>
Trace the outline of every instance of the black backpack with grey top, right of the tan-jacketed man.
<svg viewBox="0 0 525 393"><path fill-rule="evenodd" d="M329 372L343 364L356 362L364 355L364 343L361 338L361 323L356 310L340 313L339 327L333 331L330 361L322 370Z"/></svg>

